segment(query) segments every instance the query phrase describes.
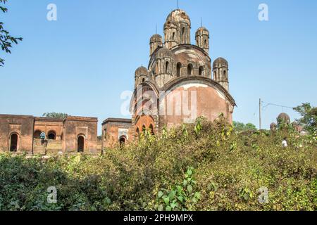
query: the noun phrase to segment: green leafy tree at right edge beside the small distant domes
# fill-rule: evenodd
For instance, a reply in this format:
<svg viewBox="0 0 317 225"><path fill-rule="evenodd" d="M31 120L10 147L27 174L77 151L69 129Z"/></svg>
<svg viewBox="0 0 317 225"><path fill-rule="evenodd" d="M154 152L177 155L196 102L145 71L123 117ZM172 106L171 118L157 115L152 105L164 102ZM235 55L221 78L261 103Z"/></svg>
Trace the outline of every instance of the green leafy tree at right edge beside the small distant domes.
<svg viewBox="0 0 317 225"><path fill-rule="evenodd" d="M310 103L303 103L295 107L294 110L302 116L297 122L302 124L309 133L317 133L317 108L313 108Z"/></svg>

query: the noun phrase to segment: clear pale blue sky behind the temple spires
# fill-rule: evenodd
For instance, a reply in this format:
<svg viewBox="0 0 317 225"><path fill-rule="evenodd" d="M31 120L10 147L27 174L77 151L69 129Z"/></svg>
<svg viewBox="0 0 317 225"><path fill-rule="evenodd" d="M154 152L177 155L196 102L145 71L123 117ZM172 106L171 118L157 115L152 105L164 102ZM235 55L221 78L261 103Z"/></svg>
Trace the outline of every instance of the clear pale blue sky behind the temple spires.
<svg viewBox="0 0 317 225"><path fill-rule="evenodd" d="M46 20L56 4L57 21ZM268 5L268 21L258 19ZM13 1L0 13L5 28L23 41L0 68L0 113L46 112L99 118L123 117L120 94L134 88L135 69L147 67L149 37L177 0ZM194 32L203 18L211 32L211 59L229 62L234 120L259 125L266 103L317 105L317 1L180 0ZM263 109L263 127L288 108ZM100 126L99 126L100 130Z"/></svg>

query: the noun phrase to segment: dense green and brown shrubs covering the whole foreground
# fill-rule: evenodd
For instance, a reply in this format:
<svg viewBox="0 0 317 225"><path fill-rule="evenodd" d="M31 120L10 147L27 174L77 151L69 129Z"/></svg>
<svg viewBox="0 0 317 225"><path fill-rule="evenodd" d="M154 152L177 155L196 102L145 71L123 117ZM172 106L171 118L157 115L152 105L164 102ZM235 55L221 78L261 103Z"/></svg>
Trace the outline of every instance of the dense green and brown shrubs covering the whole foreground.
<svg viewBox="0 0 317 225"><path fill-rule="evenodd" d="M200 118L97 157L0 155L0 210L317 210L316 150L316 136Z"/></svg>

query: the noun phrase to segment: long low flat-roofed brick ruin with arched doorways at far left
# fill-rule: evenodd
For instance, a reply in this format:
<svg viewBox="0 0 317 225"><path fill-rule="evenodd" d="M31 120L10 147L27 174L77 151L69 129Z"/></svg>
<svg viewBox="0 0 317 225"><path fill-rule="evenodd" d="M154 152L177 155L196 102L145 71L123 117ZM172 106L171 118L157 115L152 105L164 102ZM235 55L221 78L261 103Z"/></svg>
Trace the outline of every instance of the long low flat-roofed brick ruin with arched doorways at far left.
<svg viewBox="0 0 317 225"><path fill-rule="evenodd" d="M34 155L101 153L97 148L97 118L65 120L25 115L0 115L0 151ZM39 134L46 133L42 145Z"/></svg>

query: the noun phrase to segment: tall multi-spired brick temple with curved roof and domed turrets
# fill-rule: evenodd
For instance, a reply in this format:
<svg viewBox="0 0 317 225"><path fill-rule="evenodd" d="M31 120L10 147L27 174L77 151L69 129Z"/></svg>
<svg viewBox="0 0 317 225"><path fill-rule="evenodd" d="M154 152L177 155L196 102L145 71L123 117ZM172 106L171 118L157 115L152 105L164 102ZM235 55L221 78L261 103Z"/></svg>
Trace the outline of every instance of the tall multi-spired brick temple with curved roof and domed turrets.
<svg viewBox="0 0 317 225"><path fill-rule="evenodd" d="M199 27L192 45L191 26L187 13L177 9L166 18L164 40L159 34L150 38L149 66L135 71L130 103L136 138L144 129L155 134L201 116L213 121L223 114L232 122L228 61L217 58L211 67L209 31Z"/></svg>

